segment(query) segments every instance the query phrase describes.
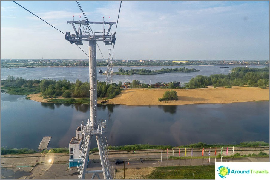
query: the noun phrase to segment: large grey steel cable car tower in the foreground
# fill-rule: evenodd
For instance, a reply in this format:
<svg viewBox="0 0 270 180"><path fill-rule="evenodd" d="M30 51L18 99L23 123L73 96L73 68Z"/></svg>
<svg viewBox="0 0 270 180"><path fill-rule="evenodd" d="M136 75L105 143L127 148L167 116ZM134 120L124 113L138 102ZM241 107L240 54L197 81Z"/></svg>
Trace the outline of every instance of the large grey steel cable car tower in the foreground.
<svg viewBox="0 0 270 180"><path fill-rule="evenodd" d="M111 167L108 159L108 146L103 142L102 133L106 131L106 121L96 120L97 117L97 68L96 68L96 41L103 41L105 45L115 44L115 33L110 33L111 27L116 22L90 22L88 20L82 21L67 21L73 26L74 32L66 32L65 38L71 44L82 45L82 41L88 41L89 45L89 88L90 88L90 118L83 121L81 124L81 133L84 135L82 146L80 148L80 156L78 162L78 179L85 179L85 173L94 173L92 179L97 172L102 172L104 179L112 179ZM78 30L75 28L78 25ZM103 25L103 32L93 32L90 24ZM105 32L105 25L109 25L107 32ZM81 27L89 29L84 32ZM84 29L84 28L83 28ZM97 146L99 149L99 156L102 166L102 171L86 171L88 165L90 140L96 137ZM98 175L97 175L98 176ZM99 176L98 176L99 177Z"/></svg>

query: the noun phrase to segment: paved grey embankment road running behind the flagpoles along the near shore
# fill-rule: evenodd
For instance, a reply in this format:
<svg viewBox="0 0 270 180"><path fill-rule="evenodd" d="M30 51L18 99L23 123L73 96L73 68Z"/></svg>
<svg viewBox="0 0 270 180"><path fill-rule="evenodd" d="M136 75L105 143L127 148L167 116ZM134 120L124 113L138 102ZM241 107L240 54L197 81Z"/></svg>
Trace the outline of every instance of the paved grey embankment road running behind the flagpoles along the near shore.
<svg viewBox="0 0 270 180"><path fill-rule="evenodd" d="M261 148L263 152L269 154L269 147ZM258 148L245 148L234 149L234 153L240 154L258 154ZM215 151L211 149L210 165L214 165ZM220 151L217 150L217 154ZM231 155L228 151L228 156ZM184 152L180 152L180 158L184 158ZM174 150L174 157L177 158L179 151L176 153ZM190 166L191 150L187 149L186 166ZM208 151L204 152L204 166L207 166ZM168 156L172 156L171 150ZM201 149L193 149L192 165L202 165ZM140 162L140 158L144 162ZM77 179L78 173L76 169L68 169L68 153L58 154L21 154L21 155L2 155L1 156L1 179ZM87 170L101 170L99 162L99 155L97 152L89 155L90 163ZM125 160L125 168L144 168L144 167L160 167L161 151L160 150L137 150L135 153L132 151L110 151L109 159L112 162L113 169L123 169L124 165L115 165L113 162L116 159ZM37 162L38 161L38 162ZM50 161L50 162L49 162ZM127 161L130 165L127 165ZM220 162L220 159L216 159ZM226 150L223 149L222 162L226 162ZM232 158L228 158L228 162L232 162ZM269 157L258 158L234 158L234 162L269 162ZM185 165L185 159L174 159L174 166ZM162 153L162 166L167 165L167 154L165 151ZM172 166L172 159L168 159L168 166ZM103 176L100 174L100 178ZM92 174L86 174L85 179L91 179Z"/></svg>

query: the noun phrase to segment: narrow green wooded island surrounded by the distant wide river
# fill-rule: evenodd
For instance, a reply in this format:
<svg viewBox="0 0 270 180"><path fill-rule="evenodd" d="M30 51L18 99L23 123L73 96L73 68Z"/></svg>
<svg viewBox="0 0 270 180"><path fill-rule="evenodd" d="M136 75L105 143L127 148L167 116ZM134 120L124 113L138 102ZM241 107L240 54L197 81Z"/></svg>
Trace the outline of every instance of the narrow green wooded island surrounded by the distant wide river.
<svg viewBox="0 0 270 180"><path fill-rule="evenodd" d="M157 74L163 74L163 73L169 73L169 72L198 72L200 70L197 70L195 68L162 68L160 70L150 70L150 69L131 69L131 70L125 70L122 68L118 69L119 72L114 72L113 74L116 75L134 75L134 74L138 74L138 75L157 75Z"/></svg>

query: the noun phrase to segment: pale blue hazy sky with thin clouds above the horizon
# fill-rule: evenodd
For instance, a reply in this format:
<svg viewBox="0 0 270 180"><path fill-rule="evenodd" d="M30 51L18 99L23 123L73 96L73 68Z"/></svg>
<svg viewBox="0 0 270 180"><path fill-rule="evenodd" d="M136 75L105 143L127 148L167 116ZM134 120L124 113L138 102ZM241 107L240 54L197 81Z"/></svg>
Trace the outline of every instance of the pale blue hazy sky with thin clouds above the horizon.
<svg viewBox="0 0 270 180"><path fill-rule="evenodd" d="M84 20L76 1L16 2L64 33L74 31L67 23L73 15ZM120 1L79 3L89 21L117 21ZM91 28L103 31L102 25ZM98 44L97 59L108 59L113 46ZM1 1L1 59L42 57L88 59L61 32L14 2ZM122 1L113 59L267 60L269 1Z"/></svg>

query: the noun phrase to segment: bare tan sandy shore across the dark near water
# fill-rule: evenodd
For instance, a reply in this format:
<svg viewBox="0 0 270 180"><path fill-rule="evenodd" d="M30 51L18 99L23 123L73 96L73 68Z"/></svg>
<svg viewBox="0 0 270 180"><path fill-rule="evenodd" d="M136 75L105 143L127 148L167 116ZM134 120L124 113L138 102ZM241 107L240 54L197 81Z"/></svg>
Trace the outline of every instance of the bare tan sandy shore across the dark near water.
<svg viewBox="0 0 270 180"><path fill-rule="evenodd" d="M177 91L178 100L157 101L165 91L171 89L125 89L115 98L108 100L107 104L123 105L185 105L200 103L236 103L249 101L268 101L269 88L238 87L208 87L201 89L173 89ZM31 100L47 102L39 94L30 94ZM100 103L101 100L98 101Z"/></svg>

